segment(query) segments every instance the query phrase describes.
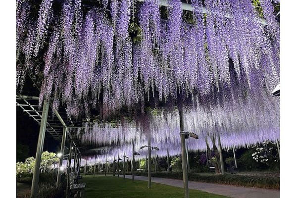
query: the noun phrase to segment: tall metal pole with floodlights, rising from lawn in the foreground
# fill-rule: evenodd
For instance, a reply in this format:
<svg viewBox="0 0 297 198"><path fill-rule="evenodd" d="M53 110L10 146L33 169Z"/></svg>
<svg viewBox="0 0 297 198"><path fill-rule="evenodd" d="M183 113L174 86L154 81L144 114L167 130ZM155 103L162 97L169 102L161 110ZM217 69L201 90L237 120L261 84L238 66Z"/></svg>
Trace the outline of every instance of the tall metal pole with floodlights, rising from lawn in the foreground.
<svg viewBox="0 0 297 198"><path fill-rule="evenodd" d="M186 141L184 132L184 122L183 122L183 109L179 109L179 118L180 118L180 136L182 143L182 166L183 166L183 180L184 180L184 192L185 198L189 198L189 186L188 186L188 168L187 168L187 154L186 154Z"/></svg>

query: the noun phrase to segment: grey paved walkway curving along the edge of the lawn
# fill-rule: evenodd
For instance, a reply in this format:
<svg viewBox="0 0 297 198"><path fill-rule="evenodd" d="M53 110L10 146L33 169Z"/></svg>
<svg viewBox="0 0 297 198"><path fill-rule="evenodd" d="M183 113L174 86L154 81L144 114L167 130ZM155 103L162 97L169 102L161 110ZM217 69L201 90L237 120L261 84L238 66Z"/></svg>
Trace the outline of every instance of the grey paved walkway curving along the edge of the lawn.
<svg viewBox="0 0 297 198"><path fill-rule="evenodd" d="M123 177L123 175L120 175ZM132 179L132 175L126 175L126 178ZM136 180L148 181L148 177L135 176ZM184 187L182 180L167 179L167 178L158 178L152 177L152 182L159 184L166 184L176 187ZM189 189L204 191L207 193L217 194L228 196L231 198L279 198L279 190L268 190L260 188L249 188L249 187L239 187L223 184L214 184L214 183L204 183L204 182L192 182L189 181Z"/></svg>

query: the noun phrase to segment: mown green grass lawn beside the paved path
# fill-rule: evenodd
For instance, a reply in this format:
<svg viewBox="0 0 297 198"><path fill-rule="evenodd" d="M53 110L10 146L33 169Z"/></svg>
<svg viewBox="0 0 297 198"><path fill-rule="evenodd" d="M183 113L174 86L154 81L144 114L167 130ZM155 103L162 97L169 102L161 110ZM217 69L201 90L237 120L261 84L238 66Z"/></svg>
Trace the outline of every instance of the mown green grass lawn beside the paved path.
<svg viewBox="0 0 297 198"><path fill-rule="evenodd" d="M113 176L87 175L80 183L86 183L86 198L183 198L184 189L164 184L132 181ZM197 190L190 190L192 198L227 198Z"/></svg>

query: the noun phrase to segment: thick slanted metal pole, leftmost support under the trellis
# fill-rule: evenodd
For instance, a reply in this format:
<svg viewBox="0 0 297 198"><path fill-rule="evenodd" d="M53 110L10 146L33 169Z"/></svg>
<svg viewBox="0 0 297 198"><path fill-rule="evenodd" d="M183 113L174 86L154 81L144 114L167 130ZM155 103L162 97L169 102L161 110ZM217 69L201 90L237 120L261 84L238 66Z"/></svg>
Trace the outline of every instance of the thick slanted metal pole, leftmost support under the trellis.
<svg viewBox="0 0 297 198"><path fill-rule="evenodd" d="M42 110L41 122L40 122L39 137L38 137L38 144L37 144L37 150L36 150L35 167L33 172L30 198L35 198L38 193L40 161L41 161L41 154L43 151L43 146L45 141L48 113L49 113L49 101L45 100L43 105L43 110Z"/></svg>

